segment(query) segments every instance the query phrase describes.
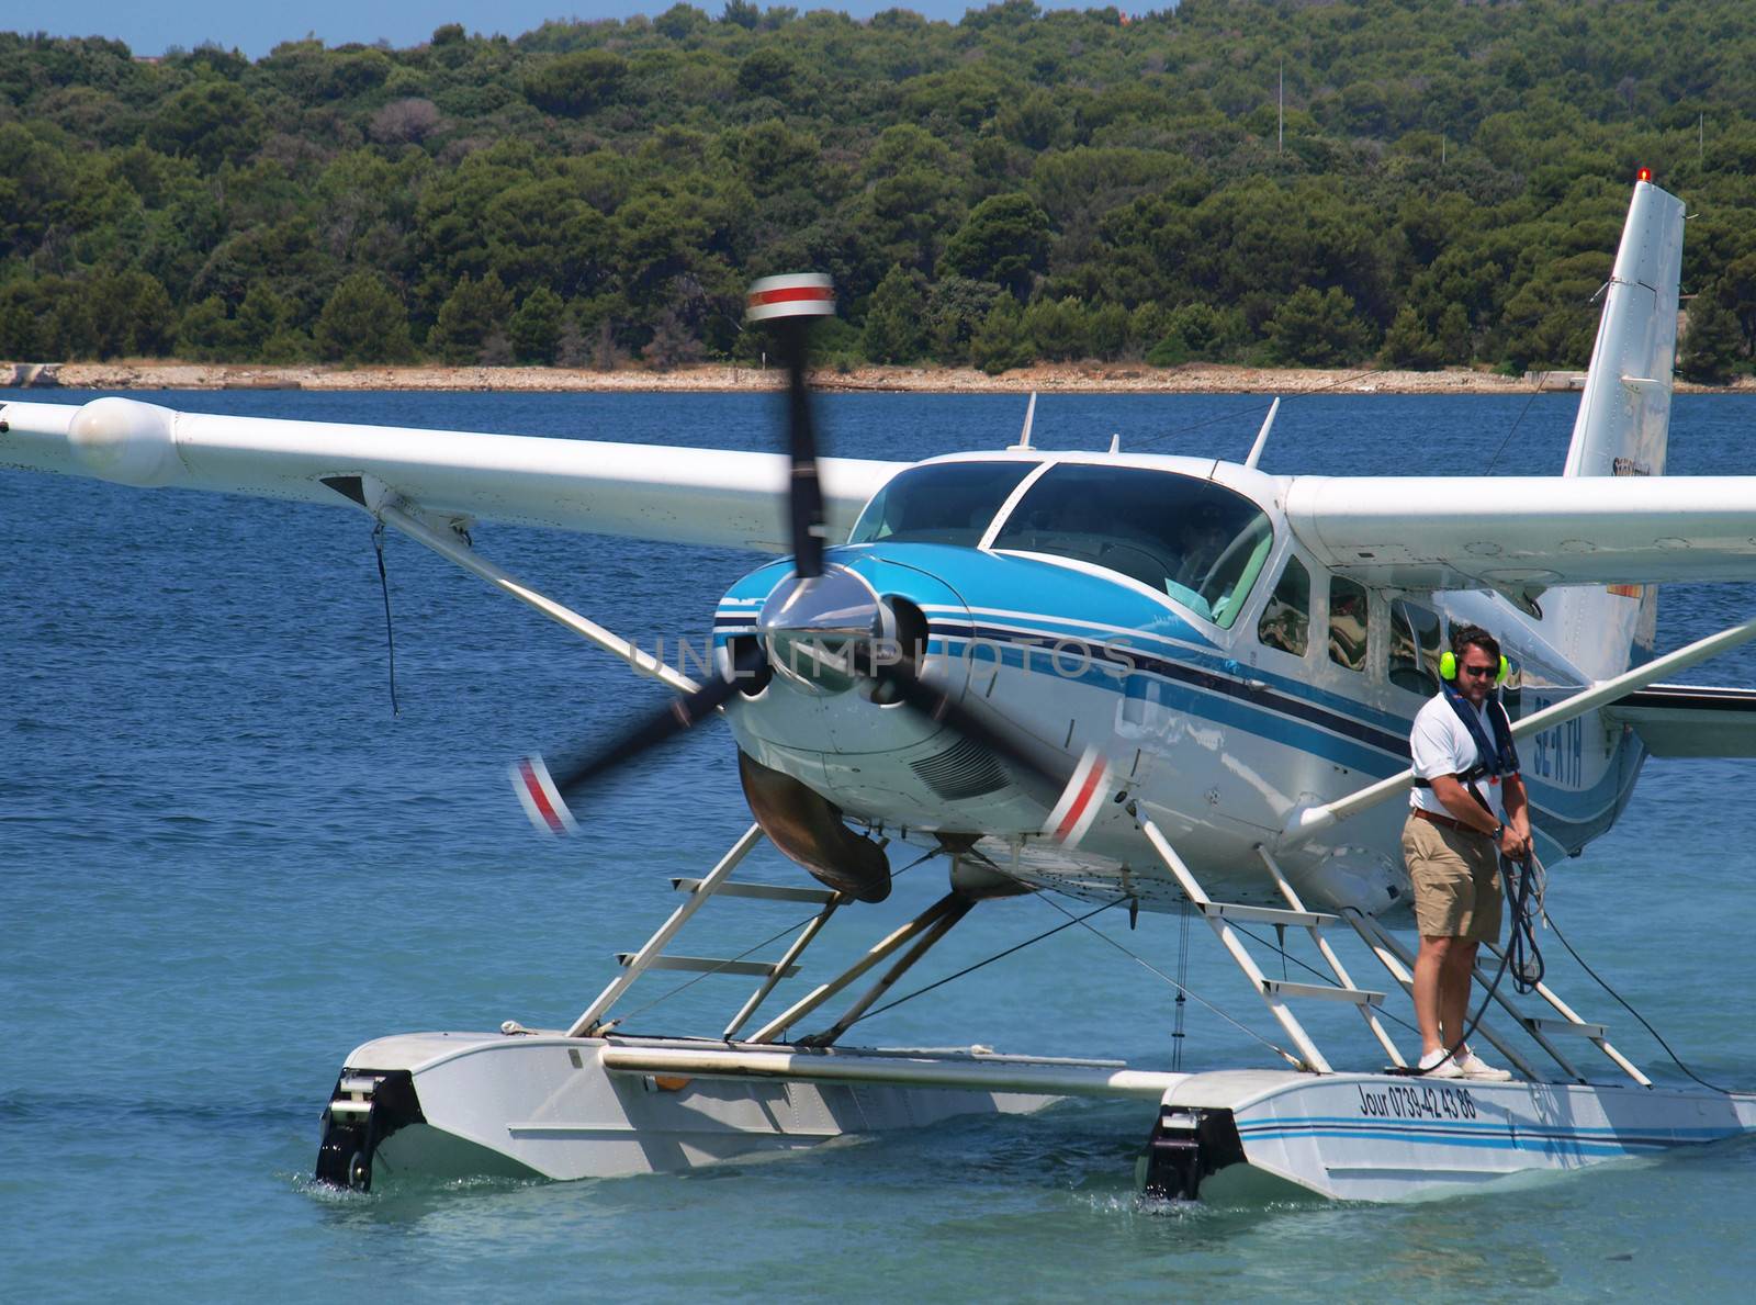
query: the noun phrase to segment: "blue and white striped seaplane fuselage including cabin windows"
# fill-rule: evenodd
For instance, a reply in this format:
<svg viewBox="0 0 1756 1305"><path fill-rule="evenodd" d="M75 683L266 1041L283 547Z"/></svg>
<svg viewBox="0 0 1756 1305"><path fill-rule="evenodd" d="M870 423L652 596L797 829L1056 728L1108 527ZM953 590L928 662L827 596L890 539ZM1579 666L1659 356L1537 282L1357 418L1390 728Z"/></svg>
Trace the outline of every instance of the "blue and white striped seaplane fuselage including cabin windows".
<svg viewBox="0 0 1756 1305"><path fill-rule="evenodd" d="M969 492L983 474L996 478L985 508ZM962 487L934 485L959 476ZM918 613L924 678L941 692L992 711L1068 769L1087 748L1110 761L1117 792L1076 850L1041 838L1040 790L855 683L771 676L729 711L738 743L876 834L929 845L939 833L980 834L982 852L1024 883L1169 910L1180 894L1140 831L1150 818L1215 890L1270 901L1257 847L1277 848L1299 808L1408 766L1410 724L1438 692L1450 624L1501 639L1514 717L1589 681L1540 618L1498 594L1403 597L1333 574L1287 529L1285 485L1205 458L946 458L899 476L855 527L857 543L829 552L882 606ZM913 504L899 508L896 487ZM730 588L720 648L757 636L788 574L776 562ZM1577 852L1608 829L1642 759L1638 738L1596 713L1529 739L1540 855ZM1408 896L1403 818L1405 803L1387 803L1282 866L1328 908L1396 908Z"/></svg>

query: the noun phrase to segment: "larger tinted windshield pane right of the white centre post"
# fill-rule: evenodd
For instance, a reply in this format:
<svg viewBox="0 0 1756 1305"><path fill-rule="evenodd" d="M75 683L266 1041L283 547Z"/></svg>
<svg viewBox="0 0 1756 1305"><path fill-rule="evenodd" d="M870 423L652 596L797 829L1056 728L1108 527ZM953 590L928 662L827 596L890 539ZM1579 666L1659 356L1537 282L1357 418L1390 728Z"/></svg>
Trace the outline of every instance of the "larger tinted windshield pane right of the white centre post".
<svg viewBox="0 0 1756 1305"><path fill-rule="evenodd" d="M1263 509L1213 481L1062 462L1018 501L994 548L1119 571L1229 627L1273 543Z"/></svg>

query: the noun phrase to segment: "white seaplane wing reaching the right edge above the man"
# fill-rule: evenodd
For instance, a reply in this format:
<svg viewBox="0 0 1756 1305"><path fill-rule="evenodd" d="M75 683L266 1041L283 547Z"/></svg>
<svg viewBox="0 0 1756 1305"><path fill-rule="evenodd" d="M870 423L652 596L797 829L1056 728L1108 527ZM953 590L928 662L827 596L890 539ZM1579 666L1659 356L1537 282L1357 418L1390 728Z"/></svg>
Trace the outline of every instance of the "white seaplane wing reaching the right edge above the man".
<svg viewBox="0 0 1756 1305"><path fill-rule="evenodd" d="M1756 580L1756 476L1296 476L1285 511L1375 587Z"/></svg>

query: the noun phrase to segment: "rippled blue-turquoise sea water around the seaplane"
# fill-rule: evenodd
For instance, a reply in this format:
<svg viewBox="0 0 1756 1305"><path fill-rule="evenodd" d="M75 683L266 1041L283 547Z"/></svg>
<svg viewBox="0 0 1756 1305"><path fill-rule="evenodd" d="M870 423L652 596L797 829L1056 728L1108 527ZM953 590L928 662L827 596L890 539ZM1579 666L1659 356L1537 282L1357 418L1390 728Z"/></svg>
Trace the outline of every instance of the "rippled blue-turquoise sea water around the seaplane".
<svg viewBox="0 0 1756 1305"><path fill-rule="evenodd" d="M5 393L0 399L40 399ZM63 400L90 395L67 393ZM144 395L202 411L648 443L773 441L762 397ZM1010 443L1022 399L831 395L864 457ZM1284 406L1270 471L1559 467L1573 400L1326 395ZM1045 397L1038 443L1241 457L1247 397ZM1672 472L1745 472L1756 402L1677 400ZM1150 1208L1140 1107L948 1122L687 1177L313 1187L318 1114L348 1050L421 1027L555 1026L748 824L723 727L606 787L588 840L537 841L502 768L658 701L611 659L392 537L400 717L363 516L0 472L0 1296L1059 1300L1745 1296L1756 1145L1600 1166L1417 1207ZM706 629L748 555L483 527L478 546L625 634ZM1756 588L1666 588L1661 643L1756 611ZM1752 683L1747 655L1698 669ZM1747 762L1654 762L1623 824L1554 868L1568 938L1705 1078L1756 1085ZM752 873L799 882L764 859ZM943 890L904 875L846 952ZM727 905L687 950L790 919ZM983 906L920 970L946 975L1062 917ZM1094 924L1161 968L1177 920ZM1549 947L1556 985L1654 1077L1663 1052ZM730 952L725 952L730 954ZM1354 957L1350 957L1354 959ZM820 961L818 966L827 964ZM810 973L820 973L813 966ZM1294 970L1292 978L1299 978ZM799 980L802 982L802 980ZM1205 934L1189 982L1273 1029ZM627 1010L669 985L637 987ZM906 987L906 984L904 984ZM630 1017L711 1031L704 980ZM1066 931L869 1020L860 1040L1171 1057L1171 991ZM1357 1020L1319 1029L1373 1063ZM1189 1066L1268 1064L1191 1006ZM1343 1056L1347 1059L1347 1056Z"/></svg>

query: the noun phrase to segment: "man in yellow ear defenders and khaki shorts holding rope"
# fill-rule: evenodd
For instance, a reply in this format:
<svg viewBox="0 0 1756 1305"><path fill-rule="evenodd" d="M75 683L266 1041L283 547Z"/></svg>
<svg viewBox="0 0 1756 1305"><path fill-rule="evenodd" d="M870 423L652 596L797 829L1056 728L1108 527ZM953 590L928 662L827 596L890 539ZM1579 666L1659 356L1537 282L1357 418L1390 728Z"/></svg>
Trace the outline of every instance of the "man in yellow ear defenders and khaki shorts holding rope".
<svg viewBox="0 0 1756 1305"><path fill-rule="evenodd" d="M1529 855L1529 804L1512 722L1494 692L1507 678L1500 641L1480 625L1461 625L1450 648L1440 659L1445 683L1408 738L1415 787L1403 859L1421 929L1414 985L1421 1073L1503 1080L1512 1075L1484 1063L1463 1036L1475 954L1500 938L1500 855Z"/></svg>

